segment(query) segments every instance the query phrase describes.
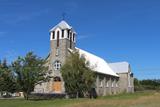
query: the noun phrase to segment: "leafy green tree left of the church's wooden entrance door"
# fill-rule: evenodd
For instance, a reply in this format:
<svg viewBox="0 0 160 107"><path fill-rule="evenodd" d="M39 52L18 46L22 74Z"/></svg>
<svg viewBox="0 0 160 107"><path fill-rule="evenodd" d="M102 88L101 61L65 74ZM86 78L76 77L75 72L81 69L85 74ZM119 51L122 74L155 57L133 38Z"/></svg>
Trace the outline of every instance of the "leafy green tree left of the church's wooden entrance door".
<svg viewBox="0 0 160 107"><path fill-rule="evenodd" d="M45 64L46 60L37 57L33 52L27 53L25 57L18 57L12 63L17 83L20 86L20 90L23 91L25 99L28 100L29 94L36 85L49 81L50 72Z"/></svg>

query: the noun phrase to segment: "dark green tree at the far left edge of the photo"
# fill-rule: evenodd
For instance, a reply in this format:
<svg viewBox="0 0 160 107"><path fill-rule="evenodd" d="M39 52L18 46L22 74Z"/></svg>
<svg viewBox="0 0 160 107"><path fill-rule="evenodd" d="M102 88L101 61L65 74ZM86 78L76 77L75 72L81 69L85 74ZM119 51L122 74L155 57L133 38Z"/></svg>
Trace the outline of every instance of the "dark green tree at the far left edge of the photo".
<svg viewBox="0 0 160 107"><path fill-rule="evenodd" d="M0 61L0 92L13 93L16 90L14 74L6 60Z"/></svg>

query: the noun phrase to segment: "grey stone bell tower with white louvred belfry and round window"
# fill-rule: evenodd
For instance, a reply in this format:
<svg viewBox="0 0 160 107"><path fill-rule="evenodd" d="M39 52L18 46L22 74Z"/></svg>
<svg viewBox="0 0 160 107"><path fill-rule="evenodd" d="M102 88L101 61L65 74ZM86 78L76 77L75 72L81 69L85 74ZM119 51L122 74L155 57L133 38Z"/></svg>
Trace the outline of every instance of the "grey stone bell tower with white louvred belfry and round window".
<svg viewBox="0 0 160 107"><path fill-rule="evenodd" d="M50 30L50 69L58 78L56 80L63 81L60 68L70 54L69 50L75 50L75 44L76 32L66 21L62 20Z"/></svg>

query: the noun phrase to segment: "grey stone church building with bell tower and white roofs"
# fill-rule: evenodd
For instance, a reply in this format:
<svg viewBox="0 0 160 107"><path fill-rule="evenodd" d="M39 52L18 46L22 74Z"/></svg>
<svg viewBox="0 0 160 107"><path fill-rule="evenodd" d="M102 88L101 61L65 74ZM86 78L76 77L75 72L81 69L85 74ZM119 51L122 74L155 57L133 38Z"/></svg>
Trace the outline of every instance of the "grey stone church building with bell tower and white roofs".
<svg viewBox="0 0 160 107"><path fill-rule="evenodd" d="M134 92L134 79L128 62L107 63L104 59L76 47L77 34L64 20L50 30L50 53L47 65L54 78L35 86L35 93L65 93L64 82L60 68L71 52L79 51L90 68L96 72L96 93L99 96Z"/></svg>

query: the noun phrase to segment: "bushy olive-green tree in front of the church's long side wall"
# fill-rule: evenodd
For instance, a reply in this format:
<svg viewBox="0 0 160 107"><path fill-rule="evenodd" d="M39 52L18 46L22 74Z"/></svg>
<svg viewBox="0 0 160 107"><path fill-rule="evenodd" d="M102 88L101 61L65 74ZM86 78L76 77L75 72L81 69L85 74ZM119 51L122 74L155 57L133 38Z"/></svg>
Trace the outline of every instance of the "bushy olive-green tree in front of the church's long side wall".
<svg viewBox="0 0 160 107"><path fill-rule="evenodd" d="M65 90L68 94L76 93L79 97L88 93L95 83L95 73L89 68L89 62L79 55L78 52L71 53L61 68Z"/></svg>

